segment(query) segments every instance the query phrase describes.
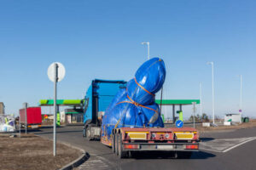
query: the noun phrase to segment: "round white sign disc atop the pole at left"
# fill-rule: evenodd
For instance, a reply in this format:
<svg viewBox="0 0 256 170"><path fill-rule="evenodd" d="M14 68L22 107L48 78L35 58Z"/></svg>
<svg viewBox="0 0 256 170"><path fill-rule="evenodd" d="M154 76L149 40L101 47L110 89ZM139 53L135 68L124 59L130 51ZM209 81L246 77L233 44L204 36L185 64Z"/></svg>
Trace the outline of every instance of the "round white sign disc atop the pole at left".
<svg viewBox="0 0 256 170"><path fill-rule="evenodd" d="M65 67L64 65L62 65L61 63L59 62L54 62L52 63L51 65L49 65L48 67L48 71L47 71L47 74L48 74L48 77L49 77L49 80L51 82L55 82L55 72L54 72L54 69L55 69L55 64L57 64L57 82L61 82L61 80L65 77Z"/></svg>

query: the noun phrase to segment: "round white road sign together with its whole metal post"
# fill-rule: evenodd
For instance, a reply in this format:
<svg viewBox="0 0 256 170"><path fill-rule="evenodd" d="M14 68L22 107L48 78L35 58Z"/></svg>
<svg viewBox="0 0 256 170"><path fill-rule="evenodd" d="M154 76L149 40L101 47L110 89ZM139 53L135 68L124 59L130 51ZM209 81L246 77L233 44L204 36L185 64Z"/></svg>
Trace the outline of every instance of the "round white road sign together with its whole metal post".
<svg viewBox="0 0 256 170"><path fill-rule="evenodd" d="M57 82L65 77L65 67L61 63L55 62L48 68L49 80L54 82L54 130L53 130L53 155L56 156L56 111L57 111Z"/></svg>

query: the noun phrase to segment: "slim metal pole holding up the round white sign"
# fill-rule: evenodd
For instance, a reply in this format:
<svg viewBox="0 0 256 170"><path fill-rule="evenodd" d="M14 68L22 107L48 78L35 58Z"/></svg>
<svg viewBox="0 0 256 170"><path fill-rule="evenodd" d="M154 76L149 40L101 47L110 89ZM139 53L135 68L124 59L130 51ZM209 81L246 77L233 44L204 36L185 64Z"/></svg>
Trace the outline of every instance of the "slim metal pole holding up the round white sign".
<svg viewBox="0 0 256 170"><path fill-rule="evenodd" d="M55 64L54 67L54 145L53 145L53 155L56 156L56 98L57 98L57 69L58 69L58 65Z"/></svg>

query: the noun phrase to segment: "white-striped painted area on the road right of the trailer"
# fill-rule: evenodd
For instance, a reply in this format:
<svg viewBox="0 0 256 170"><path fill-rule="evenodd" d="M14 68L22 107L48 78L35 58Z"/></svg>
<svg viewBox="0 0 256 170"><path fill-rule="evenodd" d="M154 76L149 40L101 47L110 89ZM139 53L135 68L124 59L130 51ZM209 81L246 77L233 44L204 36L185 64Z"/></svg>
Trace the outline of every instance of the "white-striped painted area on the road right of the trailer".
<svg viewBox="0 0 256 170"><path fill-rule="evenodd" d="M254 139L256 139L256 137L241 138L241 139L213 139L213 140L201 142L200 149L224 153L232 149L235 149L241 144L246 144L247 142L250 142Z"/></svg>

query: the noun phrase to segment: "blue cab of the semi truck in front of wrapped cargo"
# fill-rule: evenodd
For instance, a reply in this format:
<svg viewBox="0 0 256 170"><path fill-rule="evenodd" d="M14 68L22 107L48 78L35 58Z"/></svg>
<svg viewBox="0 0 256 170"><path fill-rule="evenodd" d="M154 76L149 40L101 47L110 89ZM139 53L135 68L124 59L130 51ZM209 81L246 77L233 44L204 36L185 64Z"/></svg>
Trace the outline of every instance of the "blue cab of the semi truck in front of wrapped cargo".
<svg viewBox="0 0 256 170"><path fill-rule="evenodd" d="M122 80L100 80L91 82L84 97L84 129L86 139L100 139L102 116L120 88L126 88Z"/></svg>

